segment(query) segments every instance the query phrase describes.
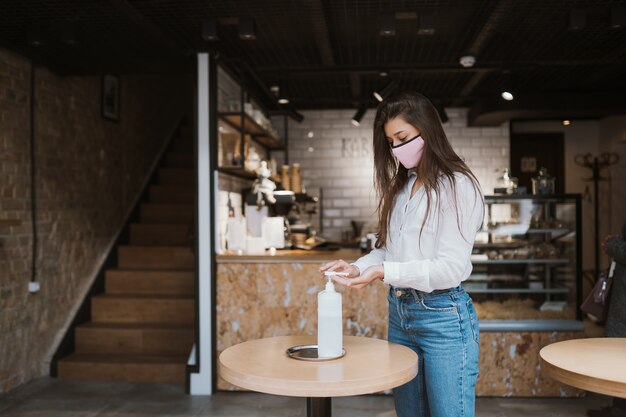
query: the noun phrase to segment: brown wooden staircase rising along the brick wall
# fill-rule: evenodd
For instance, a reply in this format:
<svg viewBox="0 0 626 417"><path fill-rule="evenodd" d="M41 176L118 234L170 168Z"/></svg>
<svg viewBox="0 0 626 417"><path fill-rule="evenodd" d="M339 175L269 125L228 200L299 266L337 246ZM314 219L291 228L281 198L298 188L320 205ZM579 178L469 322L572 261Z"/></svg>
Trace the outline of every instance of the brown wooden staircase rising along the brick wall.
<svg viewBox="0 0 626 417"><path fill-rule="evenodd" d="M130 224L105 292L91 297L91 321L75 329L75 351L58 361L64 379L185 383L194 343L191 227L196 194L193 146L177 138Z"/></svg>

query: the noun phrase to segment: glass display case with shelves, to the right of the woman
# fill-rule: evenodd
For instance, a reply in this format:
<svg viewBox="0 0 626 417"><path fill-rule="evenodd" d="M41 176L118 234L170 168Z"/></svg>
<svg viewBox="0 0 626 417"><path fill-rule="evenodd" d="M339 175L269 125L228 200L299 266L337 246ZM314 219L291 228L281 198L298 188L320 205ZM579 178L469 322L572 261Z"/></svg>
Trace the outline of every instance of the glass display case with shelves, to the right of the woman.
<svg viewBox="0 0 626 417"><path fill-rule="evenodd" d="M582 329L579 194L485 196L464 283L484 330Z"/></svg>

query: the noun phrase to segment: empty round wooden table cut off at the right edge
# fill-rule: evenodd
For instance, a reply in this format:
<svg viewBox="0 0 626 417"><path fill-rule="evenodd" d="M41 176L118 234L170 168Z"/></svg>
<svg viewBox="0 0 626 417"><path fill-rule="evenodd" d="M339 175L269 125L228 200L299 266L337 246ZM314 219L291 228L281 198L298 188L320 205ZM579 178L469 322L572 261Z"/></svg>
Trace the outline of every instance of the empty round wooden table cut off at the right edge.
<svg viewBox="0 0 626 417"><path fill-rule="evenodd" d="M539 352L541 369L572 387L626 398L626 338L575 339Z"/></svg>

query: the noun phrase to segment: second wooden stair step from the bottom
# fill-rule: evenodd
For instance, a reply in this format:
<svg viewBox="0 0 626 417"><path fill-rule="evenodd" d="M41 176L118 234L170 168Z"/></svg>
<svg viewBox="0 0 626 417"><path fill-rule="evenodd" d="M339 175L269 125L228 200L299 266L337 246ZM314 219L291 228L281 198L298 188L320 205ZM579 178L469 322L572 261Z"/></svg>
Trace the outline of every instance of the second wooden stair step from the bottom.
<svg viewBox="0 0 626 417"><path fill-rule="evenodd" d="M89 322L76 328L77 353L186 356L194 343L192 326Z"/></svg>

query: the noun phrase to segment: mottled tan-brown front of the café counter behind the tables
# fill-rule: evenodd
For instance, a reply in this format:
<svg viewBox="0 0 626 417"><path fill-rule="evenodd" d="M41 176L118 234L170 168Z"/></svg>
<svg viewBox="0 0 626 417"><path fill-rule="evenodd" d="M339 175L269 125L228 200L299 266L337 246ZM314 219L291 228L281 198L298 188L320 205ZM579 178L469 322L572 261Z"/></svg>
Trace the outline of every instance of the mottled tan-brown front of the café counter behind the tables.
<svg viewBox="0 0 626 417"><path fill-rule="evenodd" d="M317 293L324 286L319 266L337 258L351 261L360 253L308 255L218 256L218 354L246 340L316 334ZM380 281L362 290L337 286L343 296L344 334L386 338L387 288ZM543 346L579 337L582 332L482 332L477 395L581 395L545 377L539 364ZM236 388L219 380L218 389Z"/></svg>

